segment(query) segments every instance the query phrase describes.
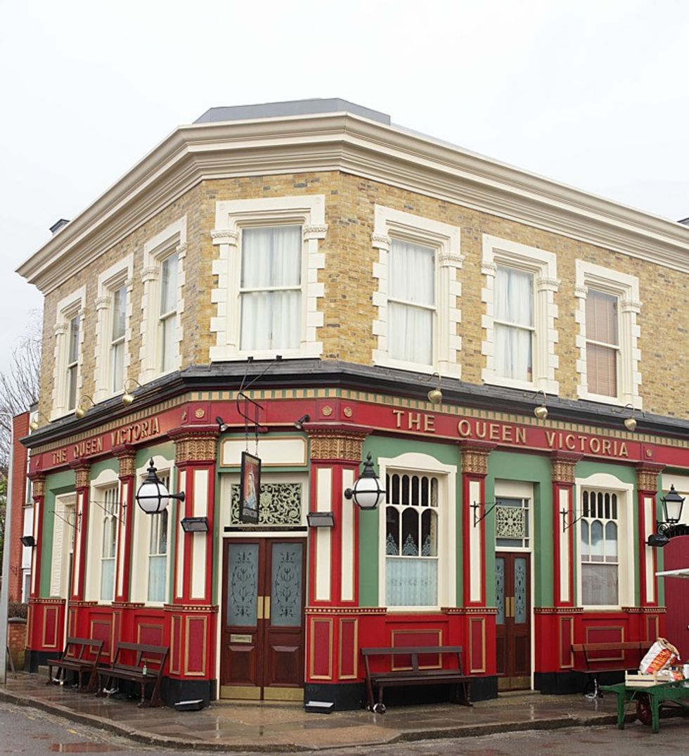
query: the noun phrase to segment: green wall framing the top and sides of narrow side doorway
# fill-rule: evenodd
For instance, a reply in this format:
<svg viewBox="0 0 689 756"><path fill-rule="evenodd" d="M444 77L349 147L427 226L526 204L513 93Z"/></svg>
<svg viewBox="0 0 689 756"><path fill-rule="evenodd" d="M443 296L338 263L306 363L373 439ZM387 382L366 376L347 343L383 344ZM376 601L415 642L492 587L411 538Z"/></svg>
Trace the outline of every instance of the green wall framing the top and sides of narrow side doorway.
<svg viewBox="0 0 689 756"><path fill-rule="evenodd" d="M534 606L552 606L552 475L549 457L493 451L488 457L486 501L495 501L495 482L514 480L533 483L533 564ZM486 602L495 606L495 518L486 518Z"/></svg>

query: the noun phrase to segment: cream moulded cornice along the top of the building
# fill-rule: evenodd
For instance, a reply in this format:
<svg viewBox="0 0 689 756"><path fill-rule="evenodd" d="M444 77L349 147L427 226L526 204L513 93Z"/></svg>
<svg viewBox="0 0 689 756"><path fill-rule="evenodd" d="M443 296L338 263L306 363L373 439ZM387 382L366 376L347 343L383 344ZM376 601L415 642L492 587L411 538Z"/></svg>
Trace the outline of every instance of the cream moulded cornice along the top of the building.
<svg viewBox="0 0 689 756"><path fill-rule="evenodd" d="M689 273L689 228L397 126L326 113L181 126L17 269L44 293L203 179L341 170Z"/></svg>

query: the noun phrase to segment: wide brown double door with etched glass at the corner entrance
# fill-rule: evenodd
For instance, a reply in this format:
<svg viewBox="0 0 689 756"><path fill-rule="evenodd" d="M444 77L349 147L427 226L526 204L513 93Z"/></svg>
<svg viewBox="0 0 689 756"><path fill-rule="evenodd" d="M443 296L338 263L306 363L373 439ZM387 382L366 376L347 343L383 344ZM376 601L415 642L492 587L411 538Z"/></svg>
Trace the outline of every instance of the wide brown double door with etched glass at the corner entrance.
<svg viewBox="0 0 689 756"><path fill-rule="evenodd" d="M306 542L225 541L220 696L301 700Z"/></svg>

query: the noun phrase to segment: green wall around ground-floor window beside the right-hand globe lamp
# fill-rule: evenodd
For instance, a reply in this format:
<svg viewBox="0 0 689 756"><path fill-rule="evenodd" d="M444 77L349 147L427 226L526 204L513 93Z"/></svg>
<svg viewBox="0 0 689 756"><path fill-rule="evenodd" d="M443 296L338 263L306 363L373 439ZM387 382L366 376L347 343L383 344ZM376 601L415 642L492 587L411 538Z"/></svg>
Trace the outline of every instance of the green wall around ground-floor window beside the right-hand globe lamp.
<svg viewBox="0 0 689 756"><path fill-rule="evenodd" d="M363 458L371 452L375 463L375 472L378 473L376 460L378 457L399 457L400 454L415 452L416 454L428 454L438 462L446 465L456 465L459 469L459 447L453 444L434 444L429 442L410 441L406 438L383 438L382 436L369 436L363 444ZM461 485L457 478L457 502ZM459 511L459 510L458 510ZM359 604L360 606L378 606L378 511L361 512L359 517ZM461 543L459 531L459 516L457 518L457 543ZM461 550L457 550L458 583L461 583Z"/></svg>

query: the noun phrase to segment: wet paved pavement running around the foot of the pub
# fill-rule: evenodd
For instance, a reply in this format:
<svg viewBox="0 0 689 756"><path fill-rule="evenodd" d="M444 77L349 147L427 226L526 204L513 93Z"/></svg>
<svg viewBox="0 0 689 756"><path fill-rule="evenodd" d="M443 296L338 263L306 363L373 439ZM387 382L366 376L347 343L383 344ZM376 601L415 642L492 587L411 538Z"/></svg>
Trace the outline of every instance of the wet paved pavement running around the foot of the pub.
<svg viewBox="0 0 689 756"><path fill-rule="evenodd" d="M137 708L125 696L96 698L46 685L42 674L17 673L0 700L32 706L137 742L199 751L309 751L358 748L518 730L555 730L616 723L615 697L501 694L471 708L454 704L388 707L385 714L309 714L298 703L215 701L202 711ZM629 720L634 718L629 714Z"/></svg>

